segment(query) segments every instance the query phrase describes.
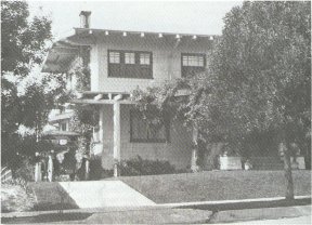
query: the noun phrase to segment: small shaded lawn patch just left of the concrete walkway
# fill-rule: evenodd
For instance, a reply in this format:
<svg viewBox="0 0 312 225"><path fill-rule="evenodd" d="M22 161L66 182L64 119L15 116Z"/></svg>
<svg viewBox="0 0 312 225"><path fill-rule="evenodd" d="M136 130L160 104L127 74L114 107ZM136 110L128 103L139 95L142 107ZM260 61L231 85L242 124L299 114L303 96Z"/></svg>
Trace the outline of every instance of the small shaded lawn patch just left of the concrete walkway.
<svg viewBox="0 0 312 225"><path fill-rule="evenodd" d="M79 209L70 193L67 193L57 182L31 183L28 188L32 189L37 198L34 211Z"/></svg>

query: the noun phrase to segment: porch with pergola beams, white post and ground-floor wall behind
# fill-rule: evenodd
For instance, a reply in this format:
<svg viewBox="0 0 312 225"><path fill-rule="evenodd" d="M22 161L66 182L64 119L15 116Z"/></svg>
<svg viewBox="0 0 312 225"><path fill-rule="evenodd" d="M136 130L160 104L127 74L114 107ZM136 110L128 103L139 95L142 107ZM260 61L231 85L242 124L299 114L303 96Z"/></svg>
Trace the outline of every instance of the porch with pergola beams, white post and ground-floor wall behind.
<svg viewBox="0 0 312 225"><path fill-rule="evenodd" d="M136 156L148 160L165 160L176 169L186 169L192 161L192 132L182 122L170 121L154 133L146 128L128 93L83 92L74 104L98 105L100 110L92 151L101 158L102 168L114 169L118 163ZM193 154L194 156L194 154Z"/></svg>

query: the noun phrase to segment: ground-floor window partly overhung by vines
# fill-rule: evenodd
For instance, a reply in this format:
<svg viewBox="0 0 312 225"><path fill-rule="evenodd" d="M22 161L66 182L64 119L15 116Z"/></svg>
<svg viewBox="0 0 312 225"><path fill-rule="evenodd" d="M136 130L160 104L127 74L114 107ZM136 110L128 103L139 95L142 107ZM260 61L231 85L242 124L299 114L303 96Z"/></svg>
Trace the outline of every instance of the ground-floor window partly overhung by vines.
<svg viewBox="0 0 312 225"><path fill-rule="evenodd" d="M155 121L142 119L138 110L130 111L130 142L165 143L170 138L170 123L166 125Z"/></svg>

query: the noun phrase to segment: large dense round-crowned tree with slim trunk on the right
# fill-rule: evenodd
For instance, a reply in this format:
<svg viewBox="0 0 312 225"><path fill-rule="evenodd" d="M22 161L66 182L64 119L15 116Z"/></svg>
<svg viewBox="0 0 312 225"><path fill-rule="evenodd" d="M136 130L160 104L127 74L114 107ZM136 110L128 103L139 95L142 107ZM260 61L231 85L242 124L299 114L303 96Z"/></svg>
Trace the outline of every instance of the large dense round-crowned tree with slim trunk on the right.
<svg viewBox="0 0 312 225"><path fill-rule="evenodd" d="M192 115L205 118L206 133L220 131L238 148L251 132L275 130L286 144L287 199L294 198L290 143L311 133L310 9L310 2L232 9L200 84L200 103L192 107L198 106Z"/></svg>

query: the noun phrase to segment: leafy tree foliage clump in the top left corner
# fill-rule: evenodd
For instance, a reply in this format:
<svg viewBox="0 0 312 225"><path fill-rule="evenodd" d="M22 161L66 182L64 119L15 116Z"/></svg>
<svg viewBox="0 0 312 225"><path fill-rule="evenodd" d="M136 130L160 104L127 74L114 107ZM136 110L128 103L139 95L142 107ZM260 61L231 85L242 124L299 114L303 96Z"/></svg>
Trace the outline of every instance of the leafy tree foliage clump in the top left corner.
<svg viewBox="0 0 312 225"><path fill-rule="evenodd" d="M52 38L51 21L46 16L28 17L27 2L1 2L1 74L27 76L31 65L42 62L46 41Z"/></svg>

